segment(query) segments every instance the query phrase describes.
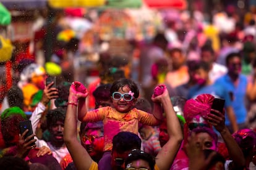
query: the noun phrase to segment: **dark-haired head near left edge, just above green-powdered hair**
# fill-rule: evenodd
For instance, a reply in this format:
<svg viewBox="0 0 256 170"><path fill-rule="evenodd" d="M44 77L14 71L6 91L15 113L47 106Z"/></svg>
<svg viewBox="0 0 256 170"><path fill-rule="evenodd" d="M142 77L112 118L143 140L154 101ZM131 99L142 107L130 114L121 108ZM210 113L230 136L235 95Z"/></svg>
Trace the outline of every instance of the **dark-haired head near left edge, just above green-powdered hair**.
<svg viewBox="0 0 256 170"><path fill-rule="evenodd" d="M18 86L12 86L7 92L7 100L10 107L23 108L23 92Z"/></svg>

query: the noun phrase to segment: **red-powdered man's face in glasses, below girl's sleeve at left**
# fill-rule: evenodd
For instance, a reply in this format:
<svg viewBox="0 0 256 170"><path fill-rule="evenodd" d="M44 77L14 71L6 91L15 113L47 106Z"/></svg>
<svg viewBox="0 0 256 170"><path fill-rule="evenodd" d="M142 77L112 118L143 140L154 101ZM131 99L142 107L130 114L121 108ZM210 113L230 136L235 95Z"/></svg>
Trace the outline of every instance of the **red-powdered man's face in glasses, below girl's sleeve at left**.
<svg viewBox="0 0 256 170"><path fill-rule="evenodd" d="M95 157L102 155L104 136L100 129L88 129L86 132L82 132L80 141L90 156Z"/></svg>

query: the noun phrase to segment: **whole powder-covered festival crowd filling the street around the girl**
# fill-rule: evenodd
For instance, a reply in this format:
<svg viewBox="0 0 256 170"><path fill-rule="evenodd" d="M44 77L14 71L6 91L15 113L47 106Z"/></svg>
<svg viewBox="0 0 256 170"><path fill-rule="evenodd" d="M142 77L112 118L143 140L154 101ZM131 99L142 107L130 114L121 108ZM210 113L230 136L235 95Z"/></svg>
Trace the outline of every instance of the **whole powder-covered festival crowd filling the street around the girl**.
<svg viewBox="0 0 256 170"><path fill-rule="evenodd" d="M11 88L0 67L0 167L255 169L255 7L208 24L185 14L127 54L101 52L86 73L75 38L54 46L50 66L14 57Z"/></svg>

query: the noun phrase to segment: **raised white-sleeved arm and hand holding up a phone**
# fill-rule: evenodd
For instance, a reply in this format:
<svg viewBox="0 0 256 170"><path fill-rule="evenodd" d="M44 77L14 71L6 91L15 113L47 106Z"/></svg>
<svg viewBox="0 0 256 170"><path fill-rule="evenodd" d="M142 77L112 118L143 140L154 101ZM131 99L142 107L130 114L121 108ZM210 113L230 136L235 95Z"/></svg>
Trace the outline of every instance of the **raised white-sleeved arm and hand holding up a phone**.
<svg viewBox="0 0 256 170"><path fill-rule="evenodd" d="M32 115L30 116L30 121L32 124L33 132L36 131L36 127L38 126L38 123L41 118L41 114L43 111L46 110L46 107L51 99L58 98L58 89L51 87L53 85L53 82L48 84L48 86L45 86L45 89L43 90L43 97L41 101L36 106L35 110L33 111Z"/></svg>

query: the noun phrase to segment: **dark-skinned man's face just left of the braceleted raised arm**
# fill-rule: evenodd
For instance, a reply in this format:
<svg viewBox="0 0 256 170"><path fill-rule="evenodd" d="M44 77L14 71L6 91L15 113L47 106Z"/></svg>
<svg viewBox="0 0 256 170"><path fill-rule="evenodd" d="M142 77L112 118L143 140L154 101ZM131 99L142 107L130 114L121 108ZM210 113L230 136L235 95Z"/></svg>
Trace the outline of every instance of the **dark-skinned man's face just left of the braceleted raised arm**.
<svg viewBox="0 0 256 170"><path fill-rule="evenodd" d="M64 144L64 139L63 139L64 122L57 121L55 124L52 124L49 128L52 136L51 140L53 140L52 142L56 144Z"/></svg>

